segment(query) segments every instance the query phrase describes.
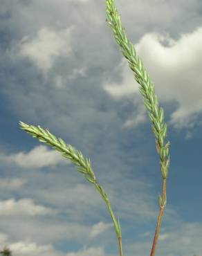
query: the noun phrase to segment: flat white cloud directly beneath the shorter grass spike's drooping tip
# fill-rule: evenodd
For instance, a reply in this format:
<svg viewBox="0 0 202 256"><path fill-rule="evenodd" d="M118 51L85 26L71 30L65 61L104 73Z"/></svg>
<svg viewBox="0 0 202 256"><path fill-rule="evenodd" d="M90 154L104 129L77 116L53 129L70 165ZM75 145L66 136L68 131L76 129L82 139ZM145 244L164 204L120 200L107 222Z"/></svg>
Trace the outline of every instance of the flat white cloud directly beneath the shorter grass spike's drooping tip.
<svg viewBox="0 0 202 256"><path fill-rule="evenodd" d="M1 161L6 163L14 163L24 168L42 168L59 163L70 163L67 158L64 158L59 152L48 149L44 145L39 145L28 153L19 152L10 156L0 155Z"/></svg>

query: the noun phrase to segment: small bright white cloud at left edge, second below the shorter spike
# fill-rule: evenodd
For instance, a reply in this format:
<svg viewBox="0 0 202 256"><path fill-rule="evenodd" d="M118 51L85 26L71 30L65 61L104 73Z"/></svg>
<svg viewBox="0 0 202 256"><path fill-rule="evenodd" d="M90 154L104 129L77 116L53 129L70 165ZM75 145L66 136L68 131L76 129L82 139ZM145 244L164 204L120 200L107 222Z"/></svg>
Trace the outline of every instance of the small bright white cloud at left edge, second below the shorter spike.
<svg viewBox="0 0 202 256"><path fill-rule="evenodd" d="M0 215L46 215L55 214L56 211L46 208L43 205L37 205L32 199L8 199L0 201Z"/></svg>

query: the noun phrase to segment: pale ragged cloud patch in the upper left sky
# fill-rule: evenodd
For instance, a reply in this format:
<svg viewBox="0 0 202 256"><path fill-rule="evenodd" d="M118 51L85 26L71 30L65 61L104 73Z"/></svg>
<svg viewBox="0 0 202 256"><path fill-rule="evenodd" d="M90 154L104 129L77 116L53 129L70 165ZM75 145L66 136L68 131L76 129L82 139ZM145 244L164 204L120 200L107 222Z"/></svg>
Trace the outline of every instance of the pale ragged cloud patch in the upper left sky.
<svg viewBox="0 0 202 256"><path fill-rule="evenodd" d="M19 45L19 54L28 57L46 73L54 64L56 57L71 52L71 28L55 31L52 28L40 28L35 38L24 37Z"/></svg>

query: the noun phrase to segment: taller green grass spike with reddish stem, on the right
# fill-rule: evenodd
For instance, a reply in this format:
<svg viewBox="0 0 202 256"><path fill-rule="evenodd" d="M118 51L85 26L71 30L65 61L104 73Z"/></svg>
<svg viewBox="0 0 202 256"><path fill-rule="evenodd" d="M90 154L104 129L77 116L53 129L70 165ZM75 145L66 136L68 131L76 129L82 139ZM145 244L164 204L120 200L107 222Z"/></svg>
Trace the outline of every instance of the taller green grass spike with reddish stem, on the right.
<svg viewBox="0 0 202 256"><path fill-rule="evenodd" d="M163 217L163 212L166 206L166 181L169 169L169 142L165 143L165 138L167 136L167 125L164 122L164 112L163 108L158 106L158 98L155 94L154 83L149 77L143 62L140 57L136 55L136 50L134 45L129 42L127 35L125 33L125 28L122 27L120 20L120 15L116 9L114 0L106 0L107 6L107 21L116 42L122 50L122 55L124 55L128 61L131 71L134 72L134 78L138 82L139 91L143 95L145 107L148 110L149 119L152 122L152 130L154 132L156 140L156 150L160 155L160 170L163 177L163 192L162 196L158 195L159 201L159 214L156 225L156 232L154 235L154 241L152 245L151 256L155 255L156 243L158 239L158 234L160 230L160 223Z"/></svg>

